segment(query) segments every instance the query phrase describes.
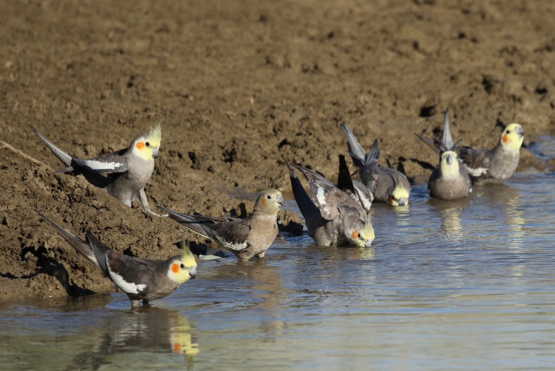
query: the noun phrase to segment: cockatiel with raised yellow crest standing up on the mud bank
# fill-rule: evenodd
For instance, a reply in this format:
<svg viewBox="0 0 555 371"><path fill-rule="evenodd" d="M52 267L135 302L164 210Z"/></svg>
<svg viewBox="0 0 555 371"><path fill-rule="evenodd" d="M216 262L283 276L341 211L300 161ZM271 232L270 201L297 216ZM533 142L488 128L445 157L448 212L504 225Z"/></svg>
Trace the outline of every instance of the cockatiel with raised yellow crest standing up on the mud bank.
<svg viewBox="0 0 555 371"><path fill-rule="evenodd" d="M69 156L62 149L54 146L37 129L33 128L33 132L67 166L56 173L74 171L77 174L83 174L90 184L104 189L128 206L131 206L133 200L138 199L146 212L159 217L168 216L159 215L150 210L147 195L144 192L144 187L154 171L154 158L159 157L158 151L162 138L160 124L151 128L150 133L133 139L129 148L88 160Z"/></svg>

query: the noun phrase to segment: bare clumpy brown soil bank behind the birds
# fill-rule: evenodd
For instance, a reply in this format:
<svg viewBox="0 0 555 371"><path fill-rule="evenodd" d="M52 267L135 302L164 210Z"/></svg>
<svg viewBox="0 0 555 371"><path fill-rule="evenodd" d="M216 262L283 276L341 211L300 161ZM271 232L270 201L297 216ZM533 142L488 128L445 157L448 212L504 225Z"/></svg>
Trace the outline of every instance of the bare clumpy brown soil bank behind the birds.
<svg viewBox="0 0 555 371"><path fill-rule="evenodd" d="M114 290L34 209L139 257L175 254L182 237L172 220L53 174L62 164L32 127L87 158L165 118L147 195L182 212L240 210L233 187L290 190L282 157L333 178L342 121L366 148L380 139L382 163L425 178L437 157L413 133L431 135L447 107L466 145L495 146L511 122L525 143L555 132L554 11L539 1L1 2L0 140L22 153L0 148L0 300ZM521 153L523 167L549 167Z"/></svg>

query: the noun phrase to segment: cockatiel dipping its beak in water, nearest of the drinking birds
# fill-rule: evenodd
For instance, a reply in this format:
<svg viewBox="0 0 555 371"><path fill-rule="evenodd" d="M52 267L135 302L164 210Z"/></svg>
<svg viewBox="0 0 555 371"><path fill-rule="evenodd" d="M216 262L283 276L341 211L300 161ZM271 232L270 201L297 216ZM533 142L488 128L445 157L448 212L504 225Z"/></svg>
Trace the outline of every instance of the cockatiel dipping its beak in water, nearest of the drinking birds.
<svg viewBox="0 0 555 371"><path fill-rule="evenodd" d="M293 163L286 164L295 200L305 218L309 235L317 244L370 247L374 240L374 228L366 210L355 199L319 174ZM292 167L298 169L309 182L310 195Z"/></svg>

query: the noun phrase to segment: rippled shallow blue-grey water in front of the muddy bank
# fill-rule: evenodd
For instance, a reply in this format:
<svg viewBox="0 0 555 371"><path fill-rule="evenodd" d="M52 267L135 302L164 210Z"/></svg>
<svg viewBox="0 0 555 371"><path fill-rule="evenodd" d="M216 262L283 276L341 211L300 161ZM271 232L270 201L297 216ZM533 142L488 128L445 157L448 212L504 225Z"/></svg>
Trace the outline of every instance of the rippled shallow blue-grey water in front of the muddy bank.
<svg viewBox="0 0 555 371"><path fill-rule="evenodd" d="M265 259L201 262L150 309L3 308L0 369L553 369L555 174L372 207L372 249L285 235Z"/></svg>

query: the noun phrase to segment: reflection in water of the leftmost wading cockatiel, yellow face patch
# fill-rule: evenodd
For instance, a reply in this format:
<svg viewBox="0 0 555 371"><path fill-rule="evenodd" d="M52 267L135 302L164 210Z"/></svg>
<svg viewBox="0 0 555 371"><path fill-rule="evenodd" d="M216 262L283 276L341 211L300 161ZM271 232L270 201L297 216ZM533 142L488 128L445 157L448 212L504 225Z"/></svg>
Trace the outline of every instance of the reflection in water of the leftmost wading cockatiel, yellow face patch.
<svg viewBox="0 0 555 371"><path fill-rule="evenodd" d="M97 370L110 364L116 354L175 353L184 354L184 365L193 369L193 359L199 345L192 332L194 328L184 315L159 307L144 307L112 315L101 325L108 331L99 344L89 352L73 359L68 370L92 367Z"/></svg>

